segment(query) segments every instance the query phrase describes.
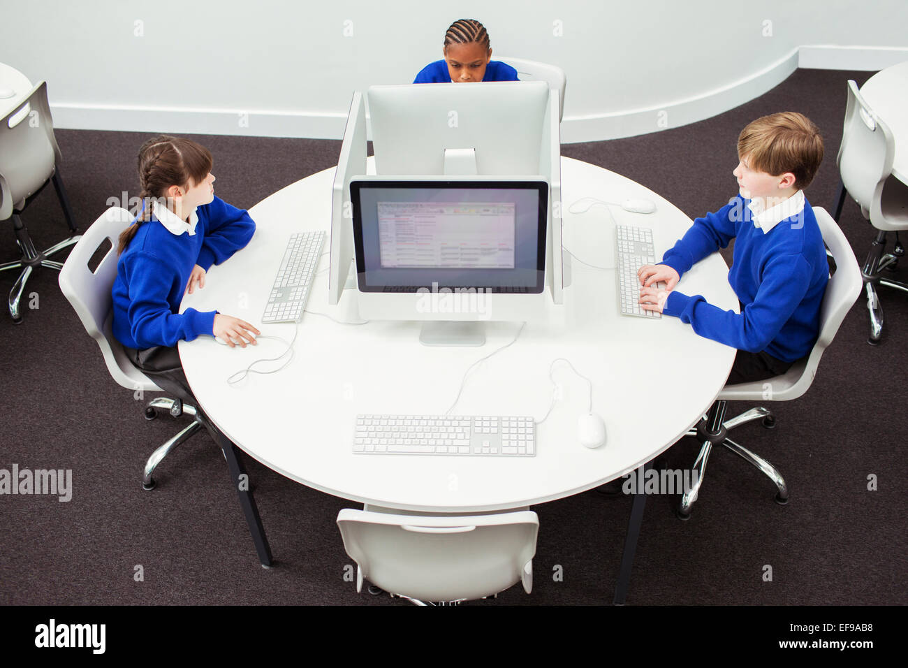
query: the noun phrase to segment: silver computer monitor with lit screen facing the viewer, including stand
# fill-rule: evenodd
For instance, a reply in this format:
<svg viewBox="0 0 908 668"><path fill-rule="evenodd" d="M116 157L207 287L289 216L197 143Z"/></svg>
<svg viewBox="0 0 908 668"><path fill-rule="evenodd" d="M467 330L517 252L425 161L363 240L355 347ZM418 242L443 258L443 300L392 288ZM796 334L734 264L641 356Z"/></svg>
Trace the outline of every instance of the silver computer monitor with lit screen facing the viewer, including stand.
<svg viewBox="0 0 908 668"><path fill-rule="evenodd" d="M545 316L545 179L362 176L350 198L360 317L481 345L484 321Z"/></svg>

